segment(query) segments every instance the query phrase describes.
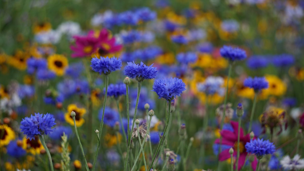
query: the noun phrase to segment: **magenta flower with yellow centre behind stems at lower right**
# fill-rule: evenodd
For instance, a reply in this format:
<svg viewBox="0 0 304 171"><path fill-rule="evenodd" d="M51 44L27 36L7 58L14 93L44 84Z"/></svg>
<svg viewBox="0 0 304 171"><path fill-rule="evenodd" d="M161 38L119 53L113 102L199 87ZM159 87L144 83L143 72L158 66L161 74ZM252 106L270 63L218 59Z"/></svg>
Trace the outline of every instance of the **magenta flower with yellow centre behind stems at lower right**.
<svg viewBox="0 0 304 171"><path fill-rule="evenodd" d="M227 146L231 146L234 149L233 152L233 156L237 157L237 130L238 130L238 126L239 124L237 122L231 121L230 122L232 128L233 128L233 132L229 131L229 130L222 130L220 132L221 136L223 137L222 139L222 145L227 145ZM255 139L255 138L254 138ZM215 140L215 144L219 144L219 139ZM240 158L239 158L239 163L238 163L238 170L240 170L244 163L245 163L245 159L247 156L247 152L246 152L246 148L245 148L245 144L247 142L250 142L250 135L244 135L244 131L241 128L240 129ZM229 154L229 148L223 150L222 152L219 153L219 160L220 161L224 161L226 159L230 158L230 154ZM234 168L235 168L235 164L234 163ZM257 159L255 158L254 161L251 163L251 167L253 170L256 169L257 167Z"/></svg>

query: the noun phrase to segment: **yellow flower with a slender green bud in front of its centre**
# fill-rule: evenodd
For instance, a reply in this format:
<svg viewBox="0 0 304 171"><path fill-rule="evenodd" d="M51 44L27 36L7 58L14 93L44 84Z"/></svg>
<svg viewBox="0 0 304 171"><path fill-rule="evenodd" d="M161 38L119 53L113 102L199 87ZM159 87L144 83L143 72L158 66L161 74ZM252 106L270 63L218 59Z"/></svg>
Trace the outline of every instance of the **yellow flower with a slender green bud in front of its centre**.
<svg viewBox="0 0 304 171"><path fill-rule="evenodd" d="M67 113L65 113L64 118L67 123L74 125L73 117L71 117L71 112L74 111L76 113L75 123L77 127L81 127L85 123L85 120L82 116L87 112L85 108L78 108L75 104L70 104L67 106Z"/></svg>

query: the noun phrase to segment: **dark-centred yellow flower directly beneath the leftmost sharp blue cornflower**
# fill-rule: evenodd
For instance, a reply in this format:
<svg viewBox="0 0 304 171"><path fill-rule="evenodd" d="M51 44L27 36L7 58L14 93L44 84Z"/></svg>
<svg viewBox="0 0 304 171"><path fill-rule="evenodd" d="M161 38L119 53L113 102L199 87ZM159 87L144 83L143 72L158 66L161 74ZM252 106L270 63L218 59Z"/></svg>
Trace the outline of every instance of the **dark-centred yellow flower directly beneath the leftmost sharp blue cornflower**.
<svg viewBox="0 0 304 171"><path fill-rule="evenodd" d="M35 136L35 139L32 140L24 137L22 139L22 148L33 155L40 154L40 151L44 149L38 136Z"/></svg>

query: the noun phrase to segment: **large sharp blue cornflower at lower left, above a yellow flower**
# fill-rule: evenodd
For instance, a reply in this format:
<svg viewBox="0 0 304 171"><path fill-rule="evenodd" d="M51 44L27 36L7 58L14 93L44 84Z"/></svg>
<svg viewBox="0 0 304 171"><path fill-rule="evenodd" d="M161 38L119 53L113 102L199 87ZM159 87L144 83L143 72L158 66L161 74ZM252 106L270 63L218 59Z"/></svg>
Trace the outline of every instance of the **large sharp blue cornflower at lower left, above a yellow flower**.
<svg viewBox="0 0 304 171"><path fill-rule="evenodd" d="M36 135L50 134L54 131L52 127L56 125L55 118L52 114L35 113L35 116L25 117L20 123L20 129L26 138L32 140Z"/></svg>

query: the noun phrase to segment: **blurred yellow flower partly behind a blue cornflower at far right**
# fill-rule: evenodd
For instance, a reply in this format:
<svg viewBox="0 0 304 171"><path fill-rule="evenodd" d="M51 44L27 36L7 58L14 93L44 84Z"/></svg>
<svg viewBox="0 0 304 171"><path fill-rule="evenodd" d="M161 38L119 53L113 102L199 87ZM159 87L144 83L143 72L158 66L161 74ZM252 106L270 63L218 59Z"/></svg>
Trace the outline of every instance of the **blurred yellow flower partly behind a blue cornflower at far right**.
<svg viewBox="0 0 304 171"><path fill-rule="evenodd" d="M268 81L268 88L264 89L263 91L266 91L269 93L269 95L274 96L282 96L286 92L286 84L279 79L275 75L266 75L265 79Z"/></svg>

